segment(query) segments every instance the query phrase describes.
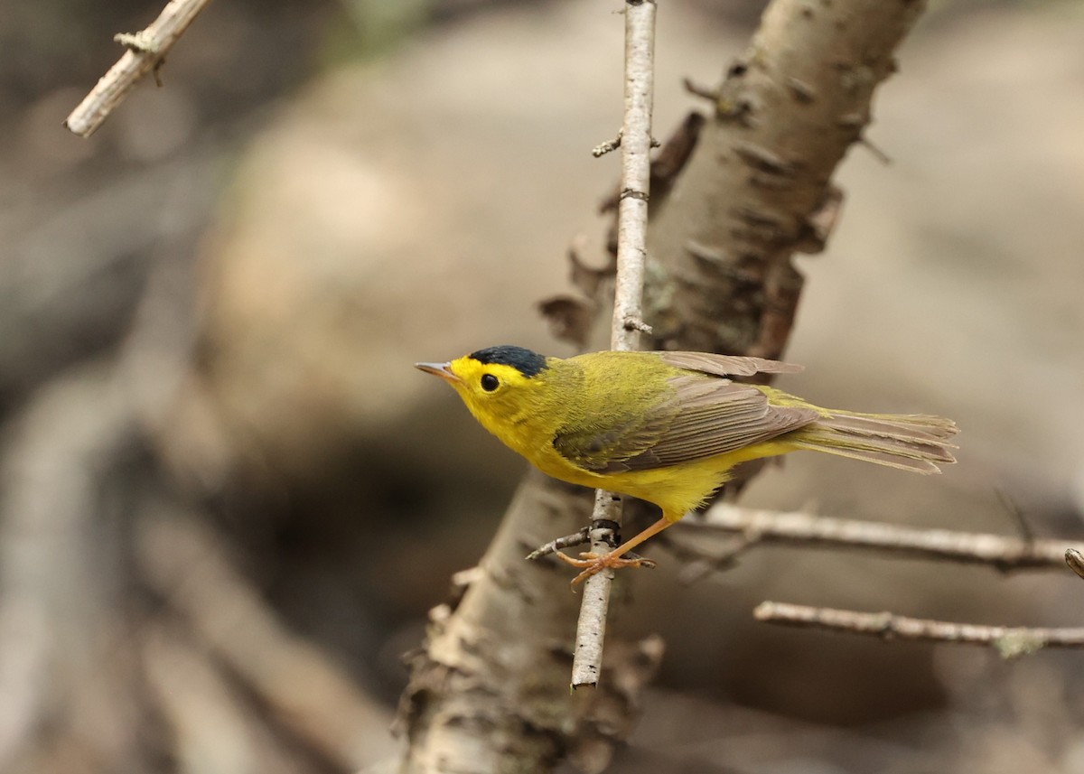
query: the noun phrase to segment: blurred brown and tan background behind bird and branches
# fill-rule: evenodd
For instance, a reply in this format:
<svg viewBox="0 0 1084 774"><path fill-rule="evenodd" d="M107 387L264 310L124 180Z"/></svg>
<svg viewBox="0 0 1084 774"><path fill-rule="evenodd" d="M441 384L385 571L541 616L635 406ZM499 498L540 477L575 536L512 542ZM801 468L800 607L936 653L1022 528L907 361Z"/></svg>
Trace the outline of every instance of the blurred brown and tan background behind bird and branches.
<svg viewBox="0 0 1084 774"><path fill-rule="evenodd" d="M90 140L159 2L0 5L0 771L349 772L522 464L413 371L554 354L618 176L618 3L220 0ZM656 133L760 3L659 13ZM780 386L963 428L935 480L792 455L744 502L1081 539L1084 3L934 2L839 175ZM1001 493L1001 494L999 494ZM1004 495L1004 496L1003 496ZM656 550L655 553L658 553ZM761 599L1075 625L1084 585L759 550L636 584L668 650L615 771L1084 772L1077 653L771 629Z"/></svg>

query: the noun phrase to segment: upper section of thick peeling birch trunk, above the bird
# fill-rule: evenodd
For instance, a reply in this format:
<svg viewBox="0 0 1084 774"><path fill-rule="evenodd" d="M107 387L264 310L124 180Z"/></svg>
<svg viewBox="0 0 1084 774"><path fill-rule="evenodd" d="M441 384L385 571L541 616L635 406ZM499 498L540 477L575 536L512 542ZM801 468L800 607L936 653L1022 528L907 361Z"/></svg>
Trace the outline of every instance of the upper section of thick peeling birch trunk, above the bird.
<svg viewBox="0 0 1084 774"><path fill-rule="evenodd" d="M778 358L842 194L830 182L925 3L774 2L726 70L714 119L648 234L648 322L662 348Z"/></svg>

